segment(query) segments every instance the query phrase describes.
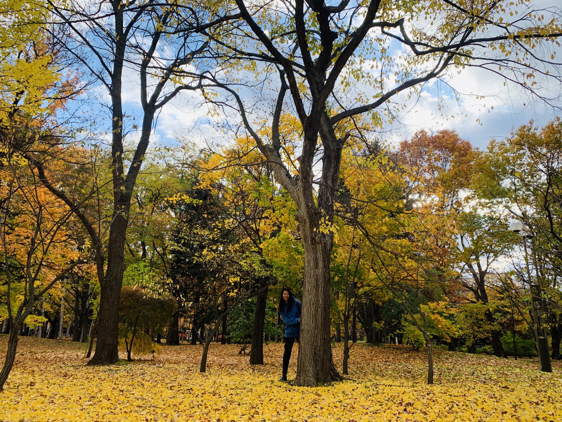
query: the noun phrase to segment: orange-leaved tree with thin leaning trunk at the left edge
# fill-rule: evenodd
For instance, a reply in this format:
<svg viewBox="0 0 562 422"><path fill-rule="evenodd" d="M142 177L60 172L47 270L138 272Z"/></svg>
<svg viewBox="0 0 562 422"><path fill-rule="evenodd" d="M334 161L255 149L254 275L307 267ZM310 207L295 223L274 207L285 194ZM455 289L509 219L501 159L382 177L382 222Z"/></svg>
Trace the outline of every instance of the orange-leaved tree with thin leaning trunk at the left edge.
<svg viewBox="0 0 562 422"><path fill-rule="evenodd" d="M1 389L15 360L19 327L35 303L91 254L72 236L71 211L34 178L33 166L21 155L12 151L2 158L0 179L0 257L10 327Z"/></svg>

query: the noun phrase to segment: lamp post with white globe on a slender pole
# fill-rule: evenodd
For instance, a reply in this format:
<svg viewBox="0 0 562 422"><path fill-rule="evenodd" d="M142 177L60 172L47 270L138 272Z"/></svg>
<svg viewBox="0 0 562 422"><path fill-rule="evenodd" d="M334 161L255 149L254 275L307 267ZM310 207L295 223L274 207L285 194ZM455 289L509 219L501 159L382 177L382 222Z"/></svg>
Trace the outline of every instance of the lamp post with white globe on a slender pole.
<svg viewBox="0 0 562 422"><path fill-rule="evenodd" d="M524 235L521 233L521 231L523 230L523 223L520 221L514 221L513 223L511 223L509 225L509 230L523 237L523 246L525 249L525 266L527 267L527 279L529 280L529 291L531 292L531 309L533 312L534 335L535 335L535 340L537 342L538 360L541 363L541 371L552 372L552 364L550 362L550 352L549 352L549 339L547 338L545 327L541 327L541 329L539 329L540 321L538 319L537 306L535 304L535 302L539 302L541 304L541 311L544 310L542 309L541 279L538 274L537 255L535 252L536 245L534 242L534 236ZM534 269L537 277L537 284L534 285L531 284L531 270L529 270L529 257L527 254L527 241L526 241L527 239L531 239L532 241L533 263L534 263Z"/></svg>

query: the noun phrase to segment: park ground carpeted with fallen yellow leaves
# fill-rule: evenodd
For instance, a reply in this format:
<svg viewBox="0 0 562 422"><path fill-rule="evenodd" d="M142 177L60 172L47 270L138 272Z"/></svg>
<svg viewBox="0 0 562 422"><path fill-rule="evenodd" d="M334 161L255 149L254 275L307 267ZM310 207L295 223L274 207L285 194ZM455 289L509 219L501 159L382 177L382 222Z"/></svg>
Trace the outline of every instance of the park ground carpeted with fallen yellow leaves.
<svg viewBox="0 0 562 422"><path fill-rule="evenodd" d="M0 335L0 353L7 336ZM296 370L296 349L289 381ZM87 367L86 345L21 338L0 392L0 421L560 421L562 365L434 352L435 384L424 384L425 353L409 346L351 348L350 378L318 388L280 383L282 344L248 365L236 345L163 347L154 360ZM334 349L341 366L342 347Z"/></svg>

